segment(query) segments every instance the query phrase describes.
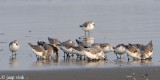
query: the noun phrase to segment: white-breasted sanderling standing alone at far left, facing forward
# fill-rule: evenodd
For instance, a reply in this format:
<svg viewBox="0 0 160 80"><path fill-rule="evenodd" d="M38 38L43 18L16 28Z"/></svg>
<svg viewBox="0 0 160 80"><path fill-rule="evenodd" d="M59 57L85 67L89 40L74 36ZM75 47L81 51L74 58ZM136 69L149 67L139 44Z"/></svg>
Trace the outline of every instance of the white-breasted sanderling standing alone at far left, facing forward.
<svg viewBox="0 0 160 80"><path fill-rule="evenodd" d="M16 56L16 51L18 51L19 49L19 43L17 40L14 40L12 42L9 43L9 50L12 52L12 56L13 56L13 52L15 52L15 56Z"/></svg>

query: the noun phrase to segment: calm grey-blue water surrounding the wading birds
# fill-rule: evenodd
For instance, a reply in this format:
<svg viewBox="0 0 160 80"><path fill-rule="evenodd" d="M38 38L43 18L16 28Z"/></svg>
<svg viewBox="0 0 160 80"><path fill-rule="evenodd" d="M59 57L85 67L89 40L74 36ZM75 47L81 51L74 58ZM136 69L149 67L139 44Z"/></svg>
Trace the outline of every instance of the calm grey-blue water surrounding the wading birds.
<svg viewBox="0 0 160 80"><path fill-rule="evenodd" d="M68 68L112 68L130 66L160 66L160 1L159 0L0 0L0 70L39 70ZM75 41L84 36L79 27L85 21L94 21L91 32L94 42L120 43L153 41L151 61L116 60L113 52L108 60L87 62L66 60L60 51L59 61L37 61L28 43L57 38ZM20 49L11 59L9 42L18 40Z"/></svg>

